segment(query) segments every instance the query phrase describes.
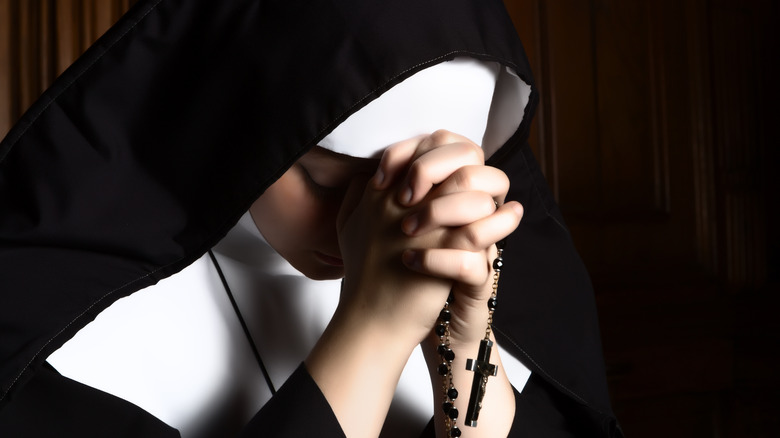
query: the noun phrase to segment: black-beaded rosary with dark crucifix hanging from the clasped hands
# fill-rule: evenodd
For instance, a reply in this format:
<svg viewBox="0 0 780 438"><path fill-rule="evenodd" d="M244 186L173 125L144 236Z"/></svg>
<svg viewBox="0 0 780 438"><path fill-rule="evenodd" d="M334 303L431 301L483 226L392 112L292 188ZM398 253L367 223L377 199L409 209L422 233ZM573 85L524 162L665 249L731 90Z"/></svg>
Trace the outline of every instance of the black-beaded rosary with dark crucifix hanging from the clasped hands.
<svg viewBox="0 0 780 438"><path fill-rule="evenodd" d="M479 351L476 359L466 361L466 369L474 372L474 380L471 383L471 395L466 409L465 424L470 427L477 427L479 411L482 409L482 399L485 397L485 388L488 377L495 376L498 373L498 367L491 364L490 352L493 348L493 341L490 340L490 332L493 326L493 312L496 310L496 294L498 292L498 278L501 274L501 268L504 266L504 243L502 240L496 244L498 255L493 260L493 291L488 299L488 320L485 329L485 337L479 343ZM454 297L450 294L444 303L444 308L439 314L439 324L436 326L436 335L439 336L438 353L442 358L438 373L442 376L442 391L444 392L444 411L445 427L447 436L459 437L461 430L457 426L458 408L455 407L455 399L458 398L458 390L452 384L452 361L455 359L455 353L450 348L450 305Z"/></svg>

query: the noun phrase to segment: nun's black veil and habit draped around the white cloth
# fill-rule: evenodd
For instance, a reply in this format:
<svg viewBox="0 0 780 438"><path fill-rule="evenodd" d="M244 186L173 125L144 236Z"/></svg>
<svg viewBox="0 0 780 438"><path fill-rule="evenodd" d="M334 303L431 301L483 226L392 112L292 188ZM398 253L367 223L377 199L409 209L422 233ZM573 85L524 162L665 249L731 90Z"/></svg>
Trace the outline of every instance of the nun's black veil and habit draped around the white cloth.
<svg viewBox="0 0 780 438"><path fill-rule="evenodd" d="M202 256L349 115L456 56L498 62L532 86L523 122L490 160L525 207L495 323L534 373L513 434L557 422L620 436L590 281L526 145L538 91L493 0L139 1L0 143L0 434L27 418L68 436L57 421L124 412L99 398L76 409L67 394L78 384L46 357L117 299ZM313 384L298 374L302 388ZM250 429L263 431L270 412L310 416L291 409L295 394L275 397ZM68 404L71 415L52 414ZM327 410L324 398L318 406ZM143 423L122 415L117 427ZM325 417L319 433L340 433ZM141 430L131 436L157 436Z"/></svg>

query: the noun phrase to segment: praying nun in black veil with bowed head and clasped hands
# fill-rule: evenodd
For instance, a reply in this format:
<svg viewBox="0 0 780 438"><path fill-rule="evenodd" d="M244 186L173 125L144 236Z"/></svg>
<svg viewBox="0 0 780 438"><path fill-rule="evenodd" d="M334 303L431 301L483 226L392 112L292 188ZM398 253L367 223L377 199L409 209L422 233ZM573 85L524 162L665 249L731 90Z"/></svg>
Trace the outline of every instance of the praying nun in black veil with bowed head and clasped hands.
<svg viewBox="0 0 780 438"><path fill-rule="evenodd" d="M0 432L622 436L537 100L498 1L139 1L0 144Z"/></svg>

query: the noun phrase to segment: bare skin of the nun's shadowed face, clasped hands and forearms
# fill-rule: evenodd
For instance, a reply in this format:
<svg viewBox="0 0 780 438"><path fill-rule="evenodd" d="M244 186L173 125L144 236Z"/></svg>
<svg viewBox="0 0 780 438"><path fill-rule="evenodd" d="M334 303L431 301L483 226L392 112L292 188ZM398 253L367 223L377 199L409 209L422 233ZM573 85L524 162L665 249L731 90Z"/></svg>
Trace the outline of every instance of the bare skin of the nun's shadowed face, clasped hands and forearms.
<svg viewBox="0 0 780 438"><path fill-rule="evenodd" d="M479 427L462 426L473 377L465 361L485 335L494 243L523 212L517 202L501 205L508 188L503 172L485 166L481 148L437 131L388 148L379 162L315 148L252 206L260 231L294 267L315 279L344 278L338 308L305 365L347 437L379 435L416 345L429 369L441 362L432 329L450 291L462 436L509 432L514 393L496 348L491 363L499 373L490 378ZM431 385L437 436L445 437L435 371Z"/></svg>

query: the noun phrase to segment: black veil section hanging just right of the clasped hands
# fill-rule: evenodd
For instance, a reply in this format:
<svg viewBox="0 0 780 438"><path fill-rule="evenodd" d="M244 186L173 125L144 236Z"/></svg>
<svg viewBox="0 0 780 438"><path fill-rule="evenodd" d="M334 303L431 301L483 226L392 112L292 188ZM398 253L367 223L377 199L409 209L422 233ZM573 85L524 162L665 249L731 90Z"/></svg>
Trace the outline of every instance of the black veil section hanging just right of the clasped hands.
<svg viewBox="0 0 780 438"><path fill-rule="evenodd" d="M589 406L591 421L607 436L621 436L606 393L588 273L530 147L505 150L513 154L498 165L510 176L507 198L519 200L524 214L504 252L506 269L494 324L497 341L533 373ZM591 401L595 399L600 402Z"/></svg>

